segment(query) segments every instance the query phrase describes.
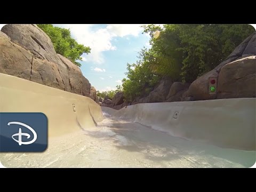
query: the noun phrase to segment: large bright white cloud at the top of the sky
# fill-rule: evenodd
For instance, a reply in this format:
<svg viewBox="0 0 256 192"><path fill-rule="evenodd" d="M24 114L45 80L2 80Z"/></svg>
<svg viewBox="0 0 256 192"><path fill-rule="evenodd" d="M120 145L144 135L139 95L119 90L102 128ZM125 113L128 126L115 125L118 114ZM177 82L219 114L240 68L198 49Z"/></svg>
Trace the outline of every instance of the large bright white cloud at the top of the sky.
<svg viewBox="0 0 256 192"><path fill-rule="evenodd" d="M124 37L127 35L138 36L142 32L141 24L109 24L100 29L93 29L92 24L54 24L54 26L69 28L71 35L76 41L91 47L89 55L83 54L86 62L103 63L102 52L116 50L111 44L113 37Z"/></svg>

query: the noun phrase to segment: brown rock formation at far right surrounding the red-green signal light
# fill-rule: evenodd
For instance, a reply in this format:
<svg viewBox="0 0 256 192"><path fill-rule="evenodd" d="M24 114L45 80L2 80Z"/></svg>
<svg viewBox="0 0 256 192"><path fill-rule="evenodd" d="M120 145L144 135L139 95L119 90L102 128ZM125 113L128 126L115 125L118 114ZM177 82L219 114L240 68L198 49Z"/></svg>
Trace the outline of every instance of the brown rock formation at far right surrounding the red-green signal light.
<svg viewBox="0 0 256 192"><path fill-rule="evenodd" d="M191 83L183 100L255 97L256 33L247 37L220 65ZM242 59L241 59L242 58ZM209 94L209 77L217 77L217 94Z"/></svg>

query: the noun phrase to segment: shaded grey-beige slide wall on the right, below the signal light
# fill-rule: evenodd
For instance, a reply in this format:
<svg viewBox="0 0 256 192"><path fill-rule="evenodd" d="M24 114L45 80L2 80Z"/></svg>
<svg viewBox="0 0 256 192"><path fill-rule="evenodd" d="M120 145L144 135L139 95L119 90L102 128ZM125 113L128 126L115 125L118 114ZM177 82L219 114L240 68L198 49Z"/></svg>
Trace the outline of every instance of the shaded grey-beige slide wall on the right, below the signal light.
<svg viewBox="0 0 256 192"><path fill-rule="evenodd" d="M176 137L255 150L255 101L239 98L139 103L120 110L102 107L102 111Z"/></svg>

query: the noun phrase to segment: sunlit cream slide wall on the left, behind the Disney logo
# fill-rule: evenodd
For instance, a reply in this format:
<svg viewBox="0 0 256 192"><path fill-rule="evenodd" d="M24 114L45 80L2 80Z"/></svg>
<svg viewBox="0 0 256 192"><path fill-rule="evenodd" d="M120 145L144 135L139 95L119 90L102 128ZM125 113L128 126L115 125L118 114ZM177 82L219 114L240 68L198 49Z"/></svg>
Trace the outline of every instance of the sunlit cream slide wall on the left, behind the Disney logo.
<svg viewBox="0 0 256 192"><path fill-rule="evenodd" d="M44 113L49 137L95 127L103 119L91 98L1 73L0 112Z"/></svg>

